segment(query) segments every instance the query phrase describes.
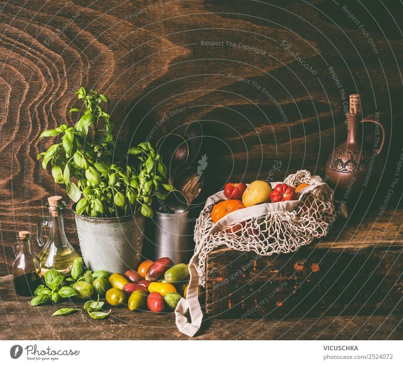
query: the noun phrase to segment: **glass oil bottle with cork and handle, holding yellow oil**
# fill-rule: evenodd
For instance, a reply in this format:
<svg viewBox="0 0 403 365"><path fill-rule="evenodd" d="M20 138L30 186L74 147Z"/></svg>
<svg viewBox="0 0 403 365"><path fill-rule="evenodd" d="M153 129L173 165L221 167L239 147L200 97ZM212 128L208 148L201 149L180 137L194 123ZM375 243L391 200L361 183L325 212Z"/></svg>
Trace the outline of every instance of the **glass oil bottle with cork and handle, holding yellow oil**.
<svg viewBox="0 0 403 365"><path fill-rule="evenodd" d="M74 259L80 257L78 252L70 244L64 231L64 209L66 204L61 197L48 198L46 206L49 209L49 217L39 218L36 231L38 245L43 247L39 253L42 264L42 275L50 269L56 269L61 274L68 274L72 270ZM49 229L46 242L42 239L43 228Z"/></svg>

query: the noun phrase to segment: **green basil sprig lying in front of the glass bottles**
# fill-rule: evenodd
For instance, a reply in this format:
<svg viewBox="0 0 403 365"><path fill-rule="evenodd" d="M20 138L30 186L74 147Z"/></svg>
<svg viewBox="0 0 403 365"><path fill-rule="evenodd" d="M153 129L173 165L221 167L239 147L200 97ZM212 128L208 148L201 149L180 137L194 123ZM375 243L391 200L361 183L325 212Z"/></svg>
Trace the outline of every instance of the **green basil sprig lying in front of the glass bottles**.
<svg viewBox="0 0 403 365"><path fill-rule="evenodd" d="M53 301L58 303L60 298L69 298L78 294L77 290L70 286L60 285L63 282L63 275L57 270L48 270L45 274L45 285L39 285L34 291L34 297L31 300L31 307Z"/></svg>

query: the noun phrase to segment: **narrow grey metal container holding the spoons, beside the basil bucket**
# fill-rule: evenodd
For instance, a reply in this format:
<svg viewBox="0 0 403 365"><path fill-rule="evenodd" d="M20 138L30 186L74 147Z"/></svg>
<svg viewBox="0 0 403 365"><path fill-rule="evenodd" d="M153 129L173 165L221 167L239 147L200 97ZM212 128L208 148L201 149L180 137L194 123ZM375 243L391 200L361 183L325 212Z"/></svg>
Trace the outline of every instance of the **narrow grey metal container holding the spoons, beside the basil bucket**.
<svg viewBox="0 0 403 365"><path fill-rule="evenodd" d="M193 239L190 234L189 210L169 214L154 212L149 240L154 244L154 259L169 257L173 263L188 263L193 255Z"/></svg>

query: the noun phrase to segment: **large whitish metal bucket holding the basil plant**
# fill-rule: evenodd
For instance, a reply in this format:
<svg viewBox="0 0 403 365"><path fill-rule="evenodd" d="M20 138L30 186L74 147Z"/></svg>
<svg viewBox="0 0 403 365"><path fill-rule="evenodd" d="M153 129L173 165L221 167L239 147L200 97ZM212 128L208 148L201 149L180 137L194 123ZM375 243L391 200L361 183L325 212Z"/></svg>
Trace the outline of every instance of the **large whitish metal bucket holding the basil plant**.
<svg viewBox="0 0 403 365"><path fill-rule="evenodd" d="M119 218L74 218L85 265L95 270L123 274L141 262L145 217L142 214Z"/></svg>

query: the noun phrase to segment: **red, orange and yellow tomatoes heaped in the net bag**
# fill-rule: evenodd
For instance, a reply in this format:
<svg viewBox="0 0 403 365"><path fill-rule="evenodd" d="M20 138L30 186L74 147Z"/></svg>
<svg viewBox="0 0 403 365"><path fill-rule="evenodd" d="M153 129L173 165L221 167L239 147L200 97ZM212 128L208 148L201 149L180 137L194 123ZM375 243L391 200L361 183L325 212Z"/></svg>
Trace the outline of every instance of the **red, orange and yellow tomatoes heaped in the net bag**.
<svg viewBox="0 0 403 365"><path fill-rule="evenodd" d="M228 182L224 194L228 198L218 202L211 212L213 223L236 210L251 207L261 203L277 203L288 200L296 200L297 193L309 185L305 182L293 188L287 184L277 184L274 189L262 180L251 182L249 186L243 182Z"/></svg>

